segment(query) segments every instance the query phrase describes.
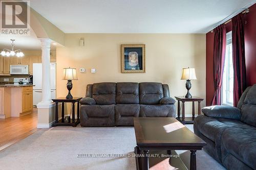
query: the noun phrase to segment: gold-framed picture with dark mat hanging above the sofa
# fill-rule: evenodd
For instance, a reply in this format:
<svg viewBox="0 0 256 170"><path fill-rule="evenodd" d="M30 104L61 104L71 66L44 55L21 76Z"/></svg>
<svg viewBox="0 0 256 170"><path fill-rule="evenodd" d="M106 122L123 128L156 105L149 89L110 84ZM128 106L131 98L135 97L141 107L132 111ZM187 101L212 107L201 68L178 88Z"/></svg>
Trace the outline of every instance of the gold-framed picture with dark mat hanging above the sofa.
<svg viewBox="0 0 256 170"><path fill-rule="evenodd" d="M145 44L121 45L122 73L145 72Z"/></svg>

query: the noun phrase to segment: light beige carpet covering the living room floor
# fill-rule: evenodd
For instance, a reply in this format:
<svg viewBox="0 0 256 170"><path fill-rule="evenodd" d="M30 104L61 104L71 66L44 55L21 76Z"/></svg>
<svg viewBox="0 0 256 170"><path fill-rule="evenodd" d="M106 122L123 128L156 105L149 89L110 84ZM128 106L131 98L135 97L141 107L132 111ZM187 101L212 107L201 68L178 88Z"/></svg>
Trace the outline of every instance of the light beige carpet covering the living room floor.
<svg viewBox="0 0 256 170"><path fill-rule="evenodd" d="M0 169L136 169L135 158L78 158L78 154L132 154L135 145L133 127L55 127L0 151ZM197 164L198 169L224 169L204 151L197 153Z"/></svg>

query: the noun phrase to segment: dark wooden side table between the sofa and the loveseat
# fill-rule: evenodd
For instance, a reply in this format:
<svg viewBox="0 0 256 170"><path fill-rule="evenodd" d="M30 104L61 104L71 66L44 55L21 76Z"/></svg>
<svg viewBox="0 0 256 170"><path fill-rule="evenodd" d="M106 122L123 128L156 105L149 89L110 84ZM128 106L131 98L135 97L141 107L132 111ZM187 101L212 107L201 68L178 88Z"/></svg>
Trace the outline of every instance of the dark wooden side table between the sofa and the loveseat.
<svg viewBox="0 0 256 170"><path fill-rule="evenodd" d="M192 98L185 98L185 96L175 96L178 100L178 116L176 117L182 124L193 124L195 119L195 102L198 102L198 115L201 114L201 102L203 98L193 96ZM180 117L180 102L182 102L182 119ZM192 102L192 117L185 117L185 102Z"/></svg>

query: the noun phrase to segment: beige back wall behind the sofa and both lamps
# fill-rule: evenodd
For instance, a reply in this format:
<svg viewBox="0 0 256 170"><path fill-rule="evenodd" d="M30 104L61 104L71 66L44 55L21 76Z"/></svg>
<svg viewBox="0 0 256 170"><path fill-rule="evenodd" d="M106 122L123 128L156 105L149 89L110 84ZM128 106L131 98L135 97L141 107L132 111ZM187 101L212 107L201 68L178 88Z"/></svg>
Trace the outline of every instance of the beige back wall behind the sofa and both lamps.
<svg viewBox="0 0 256 170"><path fill-rule="evenodd" d="M84 38L85 45L79 46ZM122 74L120 44L145 44L145 74ZM191 94L205 98L205 34L66 34L65 47L57 47L57 97L66 96L62 68L75 67L73 96L84 96L86 85L97 82L162 82L171 96L186 94L184 67L195 67L198 80L192 80ZM80 73L79 68L86 68ZM90 72L96 68L96 74ZM202 103L205 106L205 102ZM186 104L191 114L191 104ZM197 109L197 105L196 105ZM197 113L197 110L196 110Z"/></svg>

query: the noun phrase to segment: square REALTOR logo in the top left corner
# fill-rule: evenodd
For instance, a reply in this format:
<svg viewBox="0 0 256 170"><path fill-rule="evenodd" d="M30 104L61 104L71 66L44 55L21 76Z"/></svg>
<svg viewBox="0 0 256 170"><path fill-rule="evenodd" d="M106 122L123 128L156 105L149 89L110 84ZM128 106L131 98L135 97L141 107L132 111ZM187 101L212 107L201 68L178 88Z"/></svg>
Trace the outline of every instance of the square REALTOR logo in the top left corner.
<svg viewBox="0 0 256 170"><path fill-rule="evenodd" d="M30 35L29 1L1 1L1 35Z"/></svg>

